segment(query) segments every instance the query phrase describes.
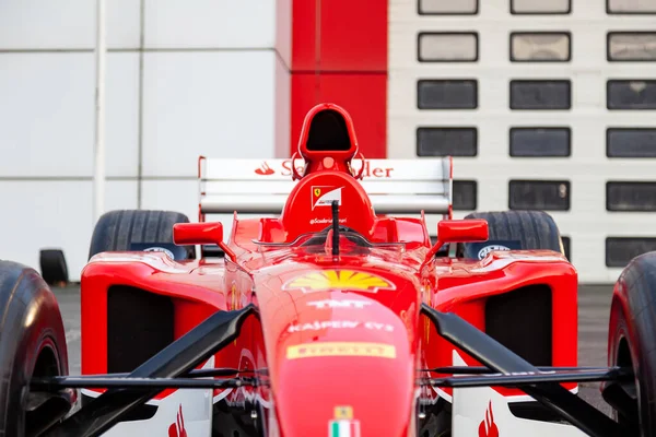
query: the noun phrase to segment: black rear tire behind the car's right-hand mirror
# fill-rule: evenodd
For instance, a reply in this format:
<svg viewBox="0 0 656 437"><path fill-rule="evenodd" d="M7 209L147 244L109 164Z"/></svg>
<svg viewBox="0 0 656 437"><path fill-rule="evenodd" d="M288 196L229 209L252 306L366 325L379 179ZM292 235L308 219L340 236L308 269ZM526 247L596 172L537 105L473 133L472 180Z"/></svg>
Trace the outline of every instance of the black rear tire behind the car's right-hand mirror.
<svg viewBox="0 0 656 437"><path fill-rule="evenodd" d="M505 246L503 241L518 241L522 250L565 252L558 225L543 211L475 212L466 218L488 221L490 244L464 244L465 258L480 259L483 249L494 246L494 241L499 241L500 246Z"/></svg>

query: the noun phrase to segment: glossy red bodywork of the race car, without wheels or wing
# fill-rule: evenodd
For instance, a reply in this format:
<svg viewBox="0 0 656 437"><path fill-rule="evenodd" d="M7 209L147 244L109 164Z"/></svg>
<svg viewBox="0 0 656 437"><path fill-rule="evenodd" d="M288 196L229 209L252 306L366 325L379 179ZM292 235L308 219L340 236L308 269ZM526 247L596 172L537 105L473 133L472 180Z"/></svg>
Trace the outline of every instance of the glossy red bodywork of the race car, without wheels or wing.
<svg viewBox="0 0 656 437"><path fill-rule="evenodd" d="M313 118L329 109L344 116L351 147L307 151ZM552 292L552 365L576 365L577 276L562 255L495 251L481 261L431 257L424 263L432 247L425 222L376 216L350 174L356 149L345 111L319 105L306 118L301 140L307 172L281 216L237 220L235 214L225 260L176 262L161 252L96 256L82 274L82 373L107 371L107 291L116 284L171 296L175 338L216 310L256 304L260 320L249 318L238 340L215 355L214 365L268 368L270 387L244 388L227 399L246 393L270 401L269 421L285 437L326 435L340 406L352 412L363 436L415 435L419 398L437 395L433 389L419 389L417 369L450 366L454 351L420 316L422 303L453 311L484 331L490 296L546 285ZM342 225L374 243L402 243L405 250L382 247L359 252L343 240L340 257L335 258L330 237L319 251L271 245L289 244L329 226L331 209L317 206L316 190L335 188L341 188ZM204 229L206 237L212 232L209 238L219 235L211 227ZM185 240L184 233L185 226L177 232L178 240ZM459 354L467 364L479 365ZM248 393L251 390L257 393ZM496 390L504 395L524 394ZM450 390L442 394L448 397Z"/></svg>

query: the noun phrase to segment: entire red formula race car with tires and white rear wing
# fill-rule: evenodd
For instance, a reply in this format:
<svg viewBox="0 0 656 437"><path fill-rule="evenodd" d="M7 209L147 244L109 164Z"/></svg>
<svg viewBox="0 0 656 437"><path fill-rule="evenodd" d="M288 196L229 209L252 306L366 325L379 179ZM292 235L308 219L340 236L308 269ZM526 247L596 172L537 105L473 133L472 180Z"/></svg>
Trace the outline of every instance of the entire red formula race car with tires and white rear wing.
<svg viewBox="0 0 656 437"><path fill-rule="evenodd" d="M1 263L0 436L654 435L654 253L616 287L609 366L575 367L577 275L549 215L453 220L450 160L365 161L335 105L298 153L202 158L199 223L99 220L81 376L52 293ZM206 214L234 210L261 216L225 240Z"/></svg>

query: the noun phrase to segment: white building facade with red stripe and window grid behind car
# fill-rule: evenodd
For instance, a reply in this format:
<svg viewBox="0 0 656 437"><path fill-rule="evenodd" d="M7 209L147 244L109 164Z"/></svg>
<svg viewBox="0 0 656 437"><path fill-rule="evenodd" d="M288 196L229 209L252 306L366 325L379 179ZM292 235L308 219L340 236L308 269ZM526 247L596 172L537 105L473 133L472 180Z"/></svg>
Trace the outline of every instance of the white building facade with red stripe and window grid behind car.
<svg viewBox="0 0 656 437"><path fill-rule="evenodd" d="M453 155L456 216L540 209L584 282L656 250L654 0L107 1L106 210L194 221L197 158L286 157L333 102L367 157ZM95 2L0 7L0 257L93 231Z"/></svg>

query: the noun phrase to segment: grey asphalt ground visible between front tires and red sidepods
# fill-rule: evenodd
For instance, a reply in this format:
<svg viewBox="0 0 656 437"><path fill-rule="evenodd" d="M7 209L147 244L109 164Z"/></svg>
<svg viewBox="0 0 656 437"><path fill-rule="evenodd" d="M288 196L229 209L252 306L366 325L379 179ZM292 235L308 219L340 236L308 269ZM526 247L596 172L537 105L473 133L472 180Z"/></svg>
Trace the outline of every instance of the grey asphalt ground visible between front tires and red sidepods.
<svg viewBox="0 0 656 437"><path fill-rule="evenodd" d="M55 288L62 311L69 347L70 374L80 375L80 288ZM582 285L578 290L578 365L606 366L606 342L612 285ZM598 383L583 383L581 395L597 409L610 413L599 394Z"/></svg>

